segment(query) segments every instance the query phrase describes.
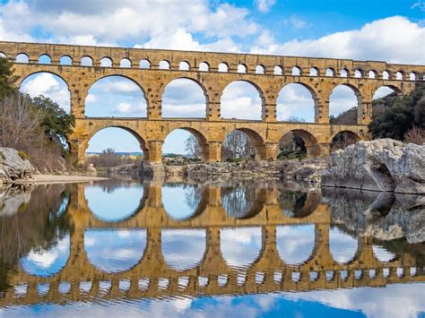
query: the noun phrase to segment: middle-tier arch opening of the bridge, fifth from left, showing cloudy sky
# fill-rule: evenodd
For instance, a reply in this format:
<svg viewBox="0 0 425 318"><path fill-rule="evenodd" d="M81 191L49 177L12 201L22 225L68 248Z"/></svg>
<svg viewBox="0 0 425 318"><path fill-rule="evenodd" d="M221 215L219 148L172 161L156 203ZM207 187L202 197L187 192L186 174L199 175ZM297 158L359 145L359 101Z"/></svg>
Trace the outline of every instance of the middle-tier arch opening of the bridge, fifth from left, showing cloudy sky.
<svg viewBox="0 0 425 318"><path fill-rule="evenodd" d="M276 119L296 123L315 122L314 90L307 85L291 83L285 85L276 100Z"/></svg>

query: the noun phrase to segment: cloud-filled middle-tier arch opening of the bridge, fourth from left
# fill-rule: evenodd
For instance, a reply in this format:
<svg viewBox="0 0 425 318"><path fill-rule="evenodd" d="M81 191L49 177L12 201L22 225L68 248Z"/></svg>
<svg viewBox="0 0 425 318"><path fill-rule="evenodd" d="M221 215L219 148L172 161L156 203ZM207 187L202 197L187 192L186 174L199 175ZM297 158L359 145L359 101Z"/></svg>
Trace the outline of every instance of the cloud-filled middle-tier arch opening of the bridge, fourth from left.
<svg viewBox="0 0 425 318"><path fill-rule="evenodd" d="M261 120L263 92L251 82L230 82L221 95L221 117Z"/></svg>

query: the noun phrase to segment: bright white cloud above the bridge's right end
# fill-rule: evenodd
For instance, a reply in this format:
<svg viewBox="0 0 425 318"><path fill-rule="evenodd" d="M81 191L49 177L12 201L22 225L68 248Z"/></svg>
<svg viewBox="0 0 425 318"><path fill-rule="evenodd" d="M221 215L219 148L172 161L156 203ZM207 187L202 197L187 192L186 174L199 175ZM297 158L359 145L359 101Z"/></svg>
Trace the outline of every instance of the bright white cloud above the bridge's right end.
<svg viewBox="0 0 425 318"><path fill-rule="evenodd" d="M425 28L402 16L394 16L367 23L360 30L336 32L319 39L293 39L282 44L253 47L251 51L425 64L421 49L424 46Z"/></svg>

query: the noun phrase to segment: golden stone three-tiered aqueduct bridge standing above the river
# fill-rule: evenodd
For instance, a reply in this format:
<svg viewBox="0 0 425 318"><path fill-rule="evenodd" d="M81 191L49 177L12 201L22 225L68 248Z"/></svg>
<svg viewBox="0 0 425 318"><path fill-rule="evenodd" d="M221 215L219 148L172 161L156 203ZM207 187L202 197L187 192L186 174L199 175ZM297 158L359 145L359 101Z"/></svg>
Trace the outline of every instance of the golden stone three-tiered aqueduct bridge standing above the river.
<svg viewBox="0 0 425 318"><path fill-rule="evenodd" d="M357 140L369 139L367 125L371 120L371 102L379 87L387 86L399 94L407 94L414 89L415 82L423 80L425 73L424 65L347 59L16 42L0 42L0 53L13 61L20 54L28 56L28 63L14 64L14 73L19 77L18 84L39 72L54 73L67 83L71 92L71 111L76 116L74 133L69 136L70 148L80 163L84 161L91 137L107 127L121 127L133 133L141 144L144 158L152 163L160 162L162 143L170 132L178 128L195 134L205 161L221 159L221 143L235 129L247 133L253 140L256 159L275 159L278 142L284 133L290 131L304 140L310 157L326 156L337 133L350 132ZM42 55L49 56L51 63L39 64L39 56ZM72 61L71 64L61 64L64 56ZM83 57L90 58L91 66L82 65ZM105 57L111 61L108 67L100 65L101 59ZM131 64L130 67L120 67L123 59ZM149 67L141 68L141 61L145 61ZM169 69L161 69L161 62L167 64ZM186 70L181 69L181 63L185 64ZM225 65L227 72L220 72L219 64ZM331 70L334 76L326 76L326 70ZM374 78L369 78L369 73ZM84 116L84 103L91 85L112 75L124 76L143 90L147 101L147 118ZM169 82L178 78L190 79L204 90L205 118L161 117L162 93ZM249 82L258 90L262 99L261 121L221 118L222 91L235 81ZM276 99L282 88L290 83L299 83L312 94L315 123L276 121ZM329 124L330 95L334 87L340 84L351 87L357 96L357 125Z"/></svg>

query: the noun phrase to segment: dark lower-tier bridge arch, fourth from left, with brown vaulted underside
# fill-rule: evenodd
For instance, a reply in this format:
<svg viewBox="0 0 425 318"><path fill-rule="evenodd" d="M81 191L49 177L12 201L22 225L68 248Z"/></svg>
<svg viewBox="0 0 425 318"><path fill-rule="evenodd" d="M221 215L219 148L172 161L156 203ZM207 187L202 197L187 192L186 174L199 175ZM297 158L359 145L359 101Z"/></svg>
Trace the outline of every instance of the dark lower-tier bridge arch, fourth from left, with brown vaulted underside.
<svg viewBox="0 0 425 318"><path fill-rule="evenodd" d="M283 142L289 144L289 147L291 147L290 150L298 152L301 157L303 153L305 153L308 158L320 156L320 147L316 137L306 130L293 129L288 133L284 133L279 142L281 151L286 150L282 149Z"/></svg>

